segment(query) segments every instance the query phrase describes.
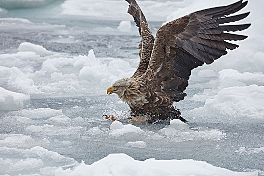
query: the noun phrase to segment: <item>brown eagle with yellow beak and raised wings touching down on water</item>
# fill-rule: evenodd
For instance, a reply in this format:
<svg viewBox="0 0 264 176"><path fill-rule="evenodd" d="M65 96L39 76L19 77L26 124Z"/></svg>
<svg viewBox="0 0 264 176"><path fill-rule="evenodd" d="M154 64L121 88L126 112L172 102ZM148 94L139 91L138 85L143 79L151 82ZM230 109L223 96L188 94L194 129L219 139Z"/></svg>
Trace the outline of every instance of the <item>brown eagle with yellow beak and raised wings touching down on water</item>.
<svg viewBox="0 0 264 176"><path fill-rule="evenodd" d="M179 118L180 111L173 102L184 99L191 70L227 54L226 49L239 47L227 42L243 40L247 36L230 31L247 29L250 24L224 25L246 18L250 12L229 16L244 8L247 1L197 11L163 25L156 37L148 28L147 20L135 0L129 3L128 13L133 16L142 37L139 45L140 62L130 78L115 81L107 94L115 93L131 111L147 115L150 122Z"/></svg>

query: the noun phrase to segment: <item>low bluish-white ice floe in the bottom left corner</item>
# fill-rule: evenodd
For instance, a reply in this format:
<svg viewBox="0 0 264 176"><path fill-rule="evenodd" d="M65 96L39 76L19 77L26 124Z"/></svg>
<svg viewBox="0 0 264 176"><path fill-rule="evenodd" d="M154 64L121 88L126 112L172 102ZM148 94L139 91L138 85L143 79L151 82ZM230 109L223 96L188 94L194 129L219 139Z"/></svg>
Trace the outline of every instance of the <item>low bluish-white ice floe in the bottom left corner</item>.
<svg viewBox="0 0 264 176"><path fill-rule="evenodd" d="M77 164L73 158L39 146L30 149L0 147L0 155L0 174L54 175L59 166Z"/></svg>

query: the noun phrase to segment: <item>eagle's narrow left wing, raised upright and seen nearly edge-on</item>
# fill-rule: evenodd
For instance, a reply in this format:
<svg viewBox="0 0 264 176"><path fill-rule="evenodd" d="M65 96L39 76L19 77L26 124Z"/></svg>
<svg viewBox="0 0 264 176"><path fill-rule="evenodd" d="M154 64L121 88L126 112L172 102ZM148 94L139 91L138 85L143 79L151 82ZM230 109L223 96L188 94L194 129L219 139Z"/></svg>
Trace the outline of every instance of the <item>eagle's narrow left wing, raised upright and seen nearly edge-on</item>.
<svg viewBox="0 0 264 176"><path fill-rule="evenodd" d="M153 45L154 45L154 36L152 35L147 20L141 11L139 5L135 0L125 0L129 3L129 8L127 13L133 16L134 21L139 28L140 36L142 37L141 42L139 44L139 55L140 55L140 62L138 65L138 69L134 73L132 77L140 77L142 76L149 65L149 60L151 57Z"/></svg>

